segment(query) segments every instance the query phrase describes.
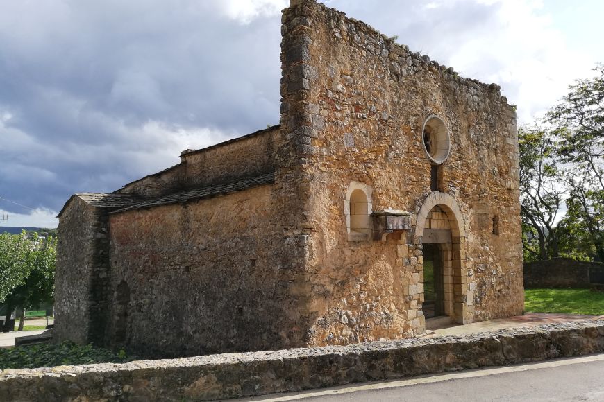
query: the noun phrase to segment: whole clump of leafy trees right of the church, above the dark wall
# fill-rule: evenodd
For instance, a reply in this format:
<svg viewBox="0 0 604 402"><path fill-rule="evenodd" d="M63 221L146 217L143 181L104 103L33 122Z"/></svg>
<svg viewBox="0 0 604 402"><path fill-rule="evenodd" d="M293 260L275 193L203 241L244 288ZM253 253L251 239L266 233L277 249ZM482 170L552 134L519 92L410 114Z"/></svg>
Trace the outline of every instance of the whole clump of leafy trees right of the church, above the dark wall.
<svg viewBox="0 0 604 402"><path fill-rule="evenodd" d="M525 261L604 261L604 64L595 71L541 126L519 130Z"/></svg>

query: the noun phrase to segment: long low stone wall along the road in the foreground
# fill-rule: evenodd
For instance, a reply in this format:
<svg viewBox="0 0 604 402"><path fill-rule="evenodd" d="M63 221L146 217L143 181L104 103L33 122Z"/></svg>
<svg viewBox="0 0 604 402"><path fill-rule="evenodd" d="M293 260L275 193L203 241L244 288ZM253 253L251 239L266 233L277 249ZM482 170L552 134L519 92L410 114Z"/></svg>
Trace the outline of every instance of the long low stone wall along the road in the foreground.
<svg viewBox="0 0 604 402"><path fill-rule="evenodd" d="M346 347L10 369L0 373L0 397L7 401L203 401L601 351L604 320Z"/></svg>

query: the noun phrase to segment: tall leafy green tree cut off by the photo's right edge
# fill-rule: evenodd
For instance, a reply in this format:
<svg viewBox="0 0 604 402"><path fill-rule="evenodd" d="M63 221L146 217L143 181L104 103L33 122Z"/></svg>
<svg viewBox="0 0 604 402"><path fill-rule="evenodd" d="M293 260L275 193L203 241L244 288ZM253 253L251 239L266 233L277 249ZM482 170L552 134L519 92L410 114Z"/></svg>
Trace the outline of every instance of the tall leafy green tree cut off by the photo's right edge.
<svg viewBox="0 0 604 402"><path fill-rule="evenodd" d="M601 261L604 215L604 64L596 76L578 80L548 113L555 128L557 155L569 191L569 219L580 224Z"/></svg>

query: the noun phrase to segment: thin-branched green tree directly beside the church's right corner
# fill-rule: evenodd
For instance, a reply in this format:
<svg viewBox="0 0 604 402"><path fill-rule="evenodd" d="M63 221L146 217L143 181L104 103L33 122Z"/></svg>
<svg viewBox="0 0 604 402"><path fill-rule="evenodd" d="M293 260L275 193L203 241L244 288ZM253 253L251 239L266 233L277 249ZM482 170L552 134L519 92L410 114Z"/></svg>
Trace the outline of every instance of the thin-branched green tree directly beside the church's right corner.
<svg viewBox="0 0 604 402"><path fill-rule="evenodd" d="M548 130L519 130L520 200L525 261L560 254L557 219L564 204L555 141Z"/></svg>

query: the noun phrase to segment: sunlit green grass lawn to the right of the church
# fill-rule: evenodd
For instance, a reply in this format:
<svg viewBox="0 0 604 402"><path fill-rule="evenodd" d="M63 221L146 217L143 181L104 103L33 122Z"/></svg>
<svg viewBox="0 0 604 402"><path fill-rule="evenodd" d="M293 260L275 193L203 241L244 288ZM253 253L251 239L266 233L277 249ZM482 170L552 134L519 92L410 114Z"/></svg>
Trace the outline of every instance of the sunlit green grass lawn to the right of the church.
<svg viewBox="0 0 604 402"><path fill-rule="evenodd" d="M604 292L589 289L526 289L524 308L532 313L604 315Z"/></svg>

